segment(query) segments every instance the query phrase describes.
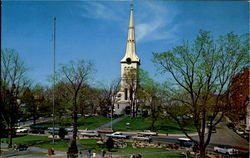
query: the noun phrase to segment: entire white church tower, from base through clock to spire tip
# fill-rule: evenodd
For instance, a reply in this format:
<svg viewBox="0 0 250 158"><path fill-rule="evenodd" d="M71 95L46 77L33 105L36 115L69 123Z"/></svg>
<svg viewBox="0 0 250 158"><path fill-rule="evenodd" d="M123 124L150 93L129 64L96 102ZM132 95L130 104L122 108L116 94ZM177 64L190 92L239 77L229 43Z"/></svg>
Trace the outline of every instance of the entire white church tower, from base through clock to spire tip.
<svg viewBox="0 0 250 158"><path fill-rule="evenodd" d="M131 8L126 52L121 60L121 87L116 95L114 114L128 114L132 112L132 108L135 108L136 103L131 104L131 102L136 99L137 70L139 65L140 59L136 55L134 10Z"/></svg>

